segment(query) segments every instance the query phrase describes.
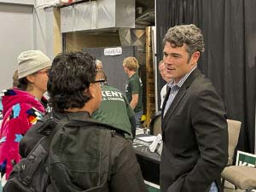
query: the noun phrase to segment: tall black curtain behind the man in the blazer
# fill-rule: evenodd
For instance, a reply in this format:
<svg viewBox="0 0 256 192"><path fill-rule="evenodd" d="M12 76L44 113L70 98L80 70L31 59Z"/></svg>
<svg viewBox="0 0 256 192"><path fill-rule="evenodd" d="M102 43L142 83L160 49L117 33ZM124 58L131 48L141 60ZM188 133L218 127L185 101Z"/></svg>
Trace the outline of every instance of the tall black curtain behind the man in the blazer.
<svg viewBox="0 0 256 192"><path fill-rule="evenodd" d="M157 58L169 27L194 23L205 52L198 67L224 99L228 119L241 120L238 149L254 153L256 100L256 1L157 0ZM158 91L164 84L160 79Z"/></svg>

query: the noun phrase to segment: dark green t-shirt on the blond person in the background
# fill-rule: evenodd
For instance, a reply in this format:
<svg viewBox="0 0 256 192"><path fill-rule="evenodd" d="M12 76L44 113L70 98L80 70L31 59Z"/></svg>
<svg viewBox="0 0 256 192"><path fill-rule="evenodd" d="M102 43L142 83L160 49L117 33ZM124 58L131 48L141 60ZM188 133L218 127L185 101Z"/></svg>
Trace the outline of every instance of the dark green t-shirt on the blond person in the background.
<svg viewBox="0 0 256 192"><path fill-rule="evenodd" d="M143 82L137 73L131 75L131 78L127 80L125 84L125 94L129 103L131 102L132 94L138 94L138 102L137 106L134 108L134 112L137 113L143 110Z"/></svg>

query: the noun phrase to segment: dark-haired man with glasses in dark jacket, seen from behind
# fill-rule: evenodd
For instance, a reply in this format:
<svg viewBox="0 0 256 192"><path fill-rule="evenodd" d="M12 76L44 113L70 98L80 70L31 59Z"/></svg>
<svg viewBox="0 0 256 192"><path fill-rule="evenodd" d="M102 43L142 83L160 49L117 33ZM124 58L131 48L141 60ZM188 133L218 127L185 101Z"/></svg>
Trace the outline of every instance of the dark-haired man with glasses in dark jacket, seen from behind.
<svg viewBox="0 0 256 192"><path fill-rule="evenodd" d="M42 172L49 175L49 181L39 183L43 185L42 191L148 191L131 142L124 137L125 131L91 118L91 113L101 104L100 82L96 79L95 59L90 54L62 53L55 57L49 69L48 82L49 102L53 108L52 117L48 118L51 120L45 121L45 118L44 122L38 122L20 142L20 155L34 162L38 160L34 148L42 138L42 132L51 137L48 138L47 160L44 166L38 166L45 167ZM23 169L26 166L16 166L17 172ZM38 180L29 174L22 184ZM34 177L39 176L34 174ZM12 185L9 186L11 191ZM38 192L39 189L26 191Z"/></svg>

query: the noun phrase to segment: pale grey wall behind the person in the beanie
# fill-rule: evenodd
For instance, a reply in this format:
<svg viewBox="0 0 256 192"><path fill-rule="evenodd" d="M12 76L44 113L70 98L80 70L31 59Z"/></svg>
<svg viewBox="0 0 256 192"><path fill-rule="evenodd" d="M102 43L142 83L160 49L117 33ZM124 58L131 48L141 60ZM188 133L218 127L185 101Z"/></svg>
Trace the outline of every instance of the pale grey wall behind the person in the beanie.
<svg viewBox="0 0 256 192"><path fill-rule="evenodd" d="M53 58L53 20L52 8L34 9L33 4L0 1L0 90L12 85L21 51L40 49Z"/></svg>

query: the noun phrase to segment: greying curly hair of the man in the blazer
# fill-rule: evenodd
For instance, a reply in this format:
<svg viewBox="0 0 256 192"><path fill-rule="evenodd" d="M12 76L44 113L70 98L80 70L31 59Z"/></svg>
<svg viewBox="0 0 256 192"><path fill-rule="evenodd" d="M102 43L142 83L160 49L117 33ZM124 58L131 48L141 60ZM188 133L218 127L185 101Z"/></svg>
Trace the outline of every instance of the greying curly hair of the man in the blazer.
<svg viewBox="0 0 256 192"><path fill-rule="evenodd" d="M167 42L174 45L174 47L182 47L183 44L186 44L189 57L191 57L195 51L202 53L205 50L201 29L194 24L173 26L169 28L166 32L163 44L165 45Z"/></svg>

